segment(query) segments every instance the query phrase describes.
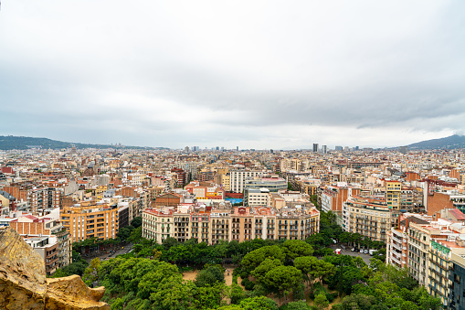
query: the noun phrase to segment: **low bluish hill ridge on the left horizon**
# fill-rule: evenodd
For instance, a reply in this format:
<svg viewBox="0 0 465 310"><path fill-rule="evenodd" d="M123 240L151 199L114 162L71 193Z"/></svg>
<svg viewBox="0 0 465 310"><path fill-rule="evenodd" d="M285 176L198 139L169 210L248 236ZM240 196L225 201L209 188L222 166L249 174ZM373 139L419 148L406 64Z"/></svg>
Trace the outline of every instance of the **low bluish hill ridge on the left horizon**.
<svg viewBox="0 0 465 310"><path fill-rule="evenodd" d="M44 148L44 149L62 149L72 146L76 148L126 148L126 149L163 149L164 147L147 147L147 146L122 146L111 144L73 144L69 142L62 142L51 140L48 138L35 138L27 136L15 135L0 135L0 150L26 150L29 148Z"/></svg>

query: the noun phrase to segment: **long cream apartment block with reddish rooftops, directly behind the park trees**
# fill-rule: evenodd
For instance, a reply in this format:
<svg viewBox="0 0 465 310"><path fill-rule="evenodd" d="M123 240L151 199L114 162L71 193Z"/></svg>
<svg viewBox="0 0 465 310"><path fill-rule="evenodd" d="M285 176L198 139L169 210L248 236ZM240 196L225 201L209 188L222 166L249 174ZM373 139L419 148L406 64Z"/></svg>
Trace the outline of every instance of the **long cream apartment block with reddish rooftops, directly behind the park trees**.
<svg viewBox="0 0 465 310"><path fill-rule="evenodd" d="M276 211L269 207L228 208L219 204L212 208L185 204L176 211L174 208L162 209L143 211L144 238L157 242L168 237L178 241L194 238L208 244L256 238L305 240L320 230L320 212L316 208Z"/></svg>

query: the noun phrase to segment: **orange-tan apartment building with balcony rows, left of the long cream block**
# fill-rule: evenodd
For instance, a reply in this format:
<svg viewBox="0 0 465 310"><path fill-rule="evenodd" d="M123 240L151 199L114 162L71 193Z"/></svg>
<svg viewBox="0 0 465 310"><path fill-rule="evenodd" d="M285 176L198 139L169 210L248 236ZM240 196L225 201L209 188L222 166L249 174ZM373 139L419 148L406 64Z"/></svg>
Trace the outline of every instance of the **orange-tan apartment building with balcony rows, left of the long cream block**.
<svg viewBox="0 0 465 310"><path fill-rule="evenodd" d="M61 222L71 234L73 242L92 237L114 239L119 230L118 206L94 200L80 201L61 210Z"/></svg>

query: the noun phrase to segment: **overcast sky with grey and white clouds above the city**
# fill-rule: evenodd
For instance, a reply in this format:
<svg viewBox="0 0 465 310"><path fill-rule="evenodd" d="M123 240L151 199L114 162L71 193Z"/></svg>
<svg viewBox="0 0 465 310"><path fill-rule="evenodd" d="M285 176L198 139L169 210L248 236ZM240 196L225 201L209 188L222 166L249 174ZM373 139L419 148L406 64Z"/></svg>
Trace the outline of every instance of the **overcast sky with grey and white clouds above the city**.
<svg viewBox="0 0 465 310"><path fill-rule="evenodd" d="M3 0L0 134L228 148L465 133L465 1Z"/></svg>

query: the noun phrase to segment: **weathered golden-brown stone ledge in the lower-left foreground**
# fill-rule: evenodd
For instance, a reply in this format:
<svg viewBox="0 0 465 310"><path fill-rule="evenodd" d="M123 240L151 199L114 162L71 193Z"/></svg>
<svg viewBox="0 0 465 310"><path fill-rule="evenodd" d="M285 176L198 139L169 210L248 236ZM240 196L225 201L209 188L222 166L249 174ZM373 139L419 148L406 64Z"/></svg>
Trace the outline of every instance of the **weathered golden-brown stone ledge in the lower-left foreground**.
<svg viewBox="0 0 465 310"><path fill-rule="evenodd" d="M90 289L78 275L47 279L44 261L16 230L0 228L0 305L2 309L107 310L104 287Z"/></svg>

